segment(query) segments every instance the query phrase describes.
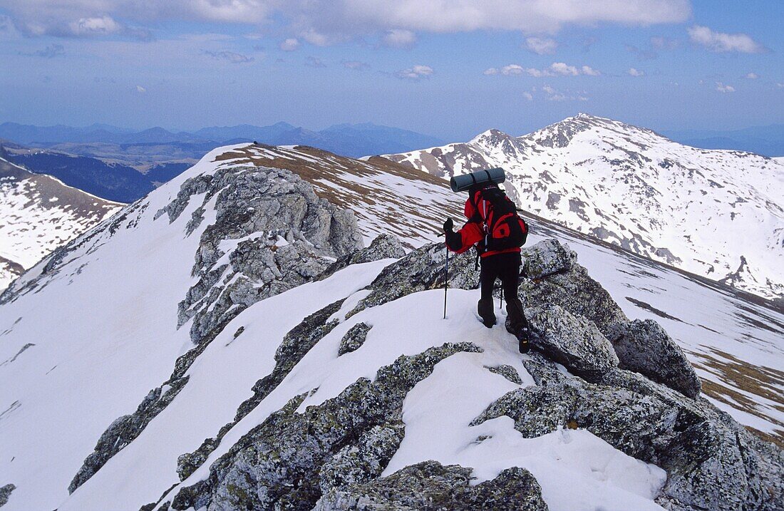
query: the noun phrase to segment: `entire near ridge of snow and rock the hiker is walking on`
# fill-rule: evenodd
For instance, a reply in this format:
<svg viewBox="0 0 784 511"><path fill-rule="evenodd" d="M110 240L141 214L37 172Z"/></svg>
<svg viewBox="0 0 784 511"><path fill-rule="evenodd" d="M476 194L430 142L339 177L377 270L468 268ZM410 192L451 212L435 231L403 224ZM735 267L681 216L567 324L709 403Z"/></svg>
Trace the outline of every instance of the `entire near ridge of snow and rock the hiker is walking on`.
<svg viewBox="0 0 784 511"><path fill-rule="evenodd" d="M42 260L0 295L3 511L781 506L735 420L784 438L782 313L531 217L520 355L469 254L442 319L460 202L243 144Z"/></svg>

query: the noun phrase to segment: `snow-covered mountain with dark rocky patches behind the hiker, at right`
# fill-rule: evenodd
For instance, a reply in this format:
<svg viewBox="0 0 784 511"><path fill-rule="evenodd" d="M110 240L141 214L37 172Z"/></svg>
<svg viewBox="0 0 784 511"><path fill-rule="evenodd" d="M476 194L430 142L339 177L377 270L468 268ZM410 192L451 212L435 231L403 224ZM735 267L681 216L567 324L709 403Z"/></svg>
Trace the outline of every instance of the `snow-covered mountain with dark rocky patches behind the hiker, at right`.
<svg viewBox="0 0 784 511"><path fill-rule="evenodd" d="M503 167L546 219L737 288L784 296L784 158L688 147L579 114L525 136L491 129L393 161L435 176Z"/></svg>

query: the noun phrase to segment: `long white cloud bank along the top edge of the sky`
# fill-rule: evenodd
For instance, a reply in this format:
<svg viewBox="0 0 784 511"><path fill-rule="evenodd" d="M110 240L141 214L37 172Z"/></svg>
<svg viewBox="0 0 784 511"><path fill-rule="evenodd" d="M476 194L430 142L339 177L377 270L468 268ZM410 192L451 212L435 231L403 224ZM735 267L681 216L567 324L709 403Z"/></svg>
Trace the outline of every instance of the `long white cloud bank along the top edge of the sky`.
<svg viewBox="0 0 784 511"><path fill-rule="evenodd" d="M298 33L313 30L327 42L336 40L328 35L345 38L387 31L554 33L571 24L669 24L683 22L691 15L689 0L3 0L2 3L28 34L52 34L53 27L100 16L147 24L196 20L261 25L275 19L283 20Z"/></svg>

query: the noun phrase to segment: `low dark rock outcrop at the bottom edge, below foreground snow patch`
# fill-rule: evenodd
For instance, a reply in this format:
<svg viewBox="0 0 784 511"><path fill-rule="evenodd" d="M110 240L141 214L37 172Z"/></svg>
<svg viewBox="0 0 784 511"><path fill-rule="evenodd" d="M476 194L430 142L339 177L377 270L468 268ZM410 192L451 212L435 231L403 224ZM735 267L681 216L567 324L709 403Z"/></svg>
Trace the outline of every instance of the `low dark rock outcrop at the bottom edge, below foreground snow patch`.
<svg viewBox="0 0 784 511"><path fill-rule="evenodd" d="M542 488L526 469L503 470L498 477L469 486L472 469L421 462L365 484L329 491L314 511L546 511Z"/></svg>

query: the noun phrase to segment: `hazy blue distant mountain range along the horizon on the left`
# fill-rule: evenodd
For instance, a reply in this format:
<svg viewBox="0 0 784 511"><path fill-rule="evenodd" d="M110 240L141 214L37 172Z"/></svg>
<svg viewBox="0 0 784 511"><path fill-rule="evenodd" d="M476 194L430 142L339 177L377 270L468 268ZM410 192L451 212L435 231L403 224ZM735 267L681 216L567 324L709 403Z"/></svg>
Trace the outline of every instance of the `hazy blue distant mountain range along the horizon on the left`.
<svg viewBox="0 0 784 511"><path fill-rule="evenodd" d="M321 131L313 131L278 122L269 126L237 125L202 128L195 132L170 132L163 128L132 131L110 125L90 125L85 128L71 126L33 126L13 122L0 124L0 139L11 140L32 147L46 147L68 150L65 144L110 144L128 146L140 144L187 144L178 149L188 152L190 145L197 154L188 154L198 160L201 155L226 143L250 142L256 140L270 145L303 145L319 147L336 154L360 157L370 154L400 153L409 150L434 147L444 143L433 136L390 128L371 123L341 124L330 126ZM73 149L73 147L71 147ZM106 147L94 147L92 156L104 156ZM81 154L79 150L69 152Z"/></svg>

